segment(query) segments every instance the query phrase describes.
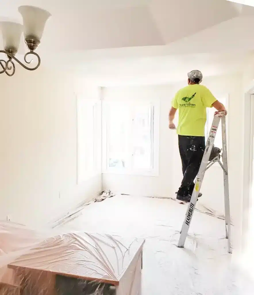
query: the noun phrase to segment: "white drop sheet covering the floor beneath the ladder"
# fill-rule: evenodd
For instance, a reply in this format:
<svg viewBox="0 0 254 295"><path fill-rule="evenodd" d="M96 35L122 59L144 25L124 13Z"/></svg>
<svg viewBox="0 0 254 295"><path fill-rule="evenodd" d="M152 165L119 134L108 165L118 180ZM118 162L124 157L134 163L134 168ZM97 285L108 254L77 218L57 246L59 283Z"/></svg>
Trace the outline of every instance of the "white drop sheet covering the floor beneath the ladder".
<svg viewBox="0 0 254 295"><path fill-rule="evenodd" d="M144 237L142 295L250 295L254 283L227 253L225 221L195 212L177 248L187 207L170 199L114 196L88 205L63 227Z"/></svg>

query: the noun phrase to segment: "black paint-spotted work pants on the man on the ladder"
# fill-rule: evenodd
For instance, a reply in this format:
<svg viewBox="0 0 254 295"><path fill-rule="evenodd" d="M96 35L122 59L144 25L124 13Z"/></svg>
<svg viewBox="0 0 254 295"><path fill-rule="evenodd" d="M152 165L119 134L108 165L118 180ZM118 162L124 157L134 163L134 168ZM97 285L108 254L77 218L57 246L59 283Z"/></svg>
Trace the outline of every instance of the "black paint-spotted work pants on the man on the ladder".
<svg viewBox="0 0 254 295"><path fill-rule="evenodd" d="M192 194L194 179L197 176L205 151L205 137L178 135L179 152L182 160L183 179L178 194Z"/></svg>

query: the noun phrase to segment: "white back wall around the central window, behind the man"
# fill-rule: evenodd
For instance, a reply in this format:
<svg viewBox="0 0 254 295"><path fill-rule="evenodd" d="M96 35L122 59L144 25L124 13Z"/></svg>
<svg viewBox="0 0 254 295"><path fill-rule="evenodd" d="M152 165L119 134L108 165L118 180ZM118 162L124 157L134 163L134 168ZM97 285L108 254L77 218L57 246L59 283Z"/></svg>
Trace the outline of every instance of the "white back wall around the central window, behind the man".
<svg viewBox="0 0 254 295"><path fill-rule="evenodd" d="M242 75L204 79L202 82L217 97L229 95L229 183L230 208L235 224L241 222L243 182L243 89ZM105 89L104 99L155 99L160 100L160 173L158 177L103 174L103 188L125 194L175 197L182 180L181 161L177 135L168 129L168 111L175 92L186 82L178 85L114 87ZM202 202L219 212L224 212L223 171L211 167L205 174L201 189Z"/></svg>

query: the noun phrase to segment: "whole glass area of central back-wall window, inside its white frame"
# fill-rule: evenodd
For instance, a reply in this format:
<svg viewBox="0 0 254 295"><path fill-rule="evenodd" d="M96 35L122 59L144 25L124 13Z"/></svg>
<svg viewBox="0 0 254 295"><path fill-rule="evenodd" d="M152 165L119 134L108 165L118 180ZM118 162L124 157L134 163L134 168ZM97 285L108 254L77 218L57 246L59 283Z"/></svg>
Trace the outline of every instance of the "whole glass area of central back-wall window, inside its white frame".
<svg viewBox="0 0 254 295"><path fill-rule="evenodd" d="M150 104L108 103L107 167L152 170L153 113Z"/></svg>

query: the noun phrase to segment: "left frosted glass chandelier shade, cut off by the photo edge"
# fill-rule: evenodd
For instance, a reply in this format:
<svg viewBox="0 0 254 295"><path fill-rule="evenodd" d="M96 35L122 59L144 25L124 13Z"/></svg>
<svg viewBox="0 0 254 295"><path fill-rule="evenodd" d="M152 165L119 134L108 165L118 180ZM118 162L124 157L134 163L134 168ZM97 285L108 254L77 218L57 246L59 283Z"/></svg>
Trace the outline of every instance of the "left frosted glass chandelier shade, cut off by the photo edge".
<svg viewBox="0 0 254 295"><path fill-rule="evenodd" d="M21 24L15 22L0 22L4 49L19 49L20 37L23 30Z"/></svg>

